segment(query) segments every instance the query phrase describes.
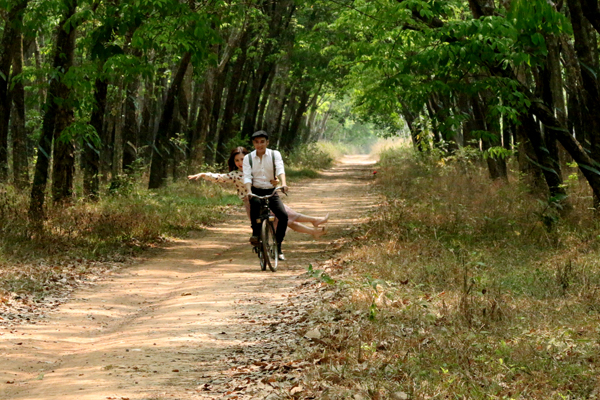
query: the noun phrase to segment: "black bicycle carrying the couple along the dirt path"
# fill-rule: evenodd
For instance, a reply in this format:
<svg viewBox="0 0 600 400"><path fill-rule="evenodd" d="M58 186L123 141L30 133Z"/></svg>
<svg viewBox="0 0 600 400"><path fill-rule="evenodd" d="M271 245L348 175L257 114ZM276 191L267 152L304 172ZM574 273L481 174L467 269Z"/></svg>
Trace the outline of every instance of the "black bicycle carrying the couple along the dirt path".
<svg viewBox="0 0 600 400"><path fill-rule="evenodd" d="M260 200L260 216L257 222L260 223L260 236L258 237L258 244L254 245L254 252L258 254L260 260L261 271L266 271L267 267L272 272L277 271L277 261L279 259L279 249L277 248L277 240L275 239L275 216L271 214L269 210L269 198L273 197L278 190L283 188L277 187L273 190L273 193L267 196L257 196L250 193L249 196L256 197Z"/></svg>

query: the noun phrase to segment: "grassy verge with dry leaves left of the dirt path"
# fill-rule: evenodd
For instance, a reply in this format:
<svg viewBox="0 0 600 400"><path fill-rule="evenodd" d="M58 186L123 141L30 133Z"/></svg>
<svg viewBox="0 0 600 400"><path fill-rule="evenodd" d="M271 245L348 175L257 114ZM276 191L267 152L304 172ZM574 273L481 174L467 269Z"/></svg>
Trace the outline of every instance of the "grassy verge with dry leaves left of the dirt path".
<svg viewBox="0 0 600 400"><path fill-rule="evenodd" d="M239 199L211 184L179 182L148 191L124 182L95 203L50 204L42 233L30 229L28 202L27 193L0 188L0 295L60 290L61 281L204 229Z"/></svg>

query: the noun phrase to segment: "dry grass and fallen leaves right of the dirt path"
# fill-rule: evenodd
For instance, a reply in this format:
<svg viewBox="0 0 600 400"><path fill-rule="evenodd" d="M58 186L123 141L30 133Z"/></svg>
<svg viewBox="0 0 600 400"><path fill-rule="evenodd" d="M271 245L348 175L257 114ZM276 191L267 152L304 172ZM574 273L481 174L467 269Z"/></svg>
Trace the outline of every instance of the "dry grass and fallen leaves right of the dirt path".
<svg viewBox="0 0 600 400"><path fill-rule="evenodd" d="M327 272L307 397L600 396L600 230L569 179L561 218L516 175L384 151L384 201ZM326 397L319 397L325 396Z"/></svg>

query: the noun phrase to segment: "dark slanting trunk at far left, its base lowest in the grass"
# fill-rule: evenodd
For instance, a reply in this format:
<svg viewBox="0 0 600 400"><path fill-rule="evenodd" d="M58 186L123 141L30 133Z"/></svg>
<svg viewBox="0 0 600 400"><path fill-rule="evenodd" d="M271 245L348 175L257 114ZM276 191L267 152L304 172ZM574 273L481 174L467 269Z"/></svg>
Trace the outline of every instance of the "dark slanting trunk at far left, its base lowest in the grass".
<svg viewBox="0 0 600 400"><path fill-rule="evenodd" d="M73 53L75 51L75 27L71 26L69 31L66 31L64 27L70 20L77 9L77 1L71 1L68 3L67 10L63 15L62 20L59 23L58 33L56 37L56 46L54 49L54 60L53 69L54 71L64 71L62 74L57 74L55 78L50 81L50 87L48 89L48 96L46 100L46 112L42 122L42 134L40 142L38 144L37 162L35 165L35 175L33 178L33 185L31 187L31 202L29 204L29 215L30 221L36 225L37 228L41 227L44 212L44 200L46 184L48 182L48 167L50 165L50 154L52 151L52 140L54 136L60 135L62 131L55 135L56 128L64 128L66 117L68 117L68 110L66 110L66 101L68 100L70 90L62 82L63 74L66 74L71 66L73 65ZM57 101L59 100L59 101ZM57 123L61 116L60 123ZM62 148L60 149L62 150ZM58 157L55 155L55 157ZM66 174L62 174L65 176ZM59 189L59 186L56 186ZM60 192L59 192L60 193Z"/></svg>

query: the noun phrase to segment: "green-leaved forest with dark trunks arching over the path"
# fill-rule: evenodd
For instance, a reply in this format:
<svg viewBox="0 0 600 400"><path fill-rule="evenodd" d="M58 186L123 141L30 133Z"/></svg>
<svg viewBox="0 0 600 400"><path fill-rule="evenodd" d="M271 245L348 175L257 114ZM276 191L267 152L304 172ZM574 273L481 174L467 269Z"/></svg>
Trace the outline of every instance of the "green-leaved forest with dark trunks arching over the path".
<svg viewBox="0 0 600 400"><path fill-rule="evenodd" d="M93 201L140 169L159 188L222 163L255 130L292 151L348 117L408 132L419 151L481 153L492 180L516 157L561 208L561 169L573 163L591 207L600 196L594 0L5 0L0 10L0 179L30 192L35 221L47 195Z"/></svg>

